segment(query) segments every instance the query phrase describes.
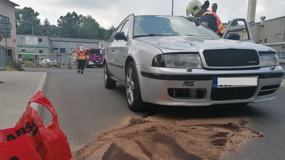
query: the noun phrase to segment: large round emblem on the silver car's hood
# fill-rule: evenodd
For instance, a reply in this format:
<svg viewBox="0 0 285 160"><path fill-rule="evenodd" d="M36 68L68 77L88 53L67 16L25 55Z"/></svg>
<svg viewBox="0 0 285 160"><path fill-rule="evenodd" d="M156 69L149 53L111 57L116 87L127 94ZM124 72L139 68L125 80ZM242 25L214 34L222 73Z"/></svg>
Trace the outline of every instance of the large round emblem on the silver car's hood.
<svg viewBox="0 0 285 160"><path fill-rule="evenodd" d="M166 42L157 43L156 45L160 48L168 50L186 50L194 47L194 43L187 41L182 41L182 42L166 41Z"/></svg>

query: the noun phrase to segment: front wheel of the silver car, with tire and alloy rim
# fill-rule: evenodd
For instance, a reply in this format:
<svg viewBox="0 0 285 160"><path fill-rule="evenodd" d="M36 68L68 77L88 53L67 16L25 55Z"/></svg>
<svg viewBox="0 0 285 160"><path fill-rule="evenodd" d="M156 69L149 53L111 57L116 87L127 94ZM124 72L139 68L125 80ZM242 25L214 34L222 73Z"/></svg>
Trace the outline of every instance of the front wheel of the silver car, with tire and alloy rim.
<svg viewBox="0 0 285 160"><path fill-rule="evenodd" d="M125 77L126 100L129 109L135 112L144 110L145 103L141 97L138 71L133 61L128 64Z"/></svg>

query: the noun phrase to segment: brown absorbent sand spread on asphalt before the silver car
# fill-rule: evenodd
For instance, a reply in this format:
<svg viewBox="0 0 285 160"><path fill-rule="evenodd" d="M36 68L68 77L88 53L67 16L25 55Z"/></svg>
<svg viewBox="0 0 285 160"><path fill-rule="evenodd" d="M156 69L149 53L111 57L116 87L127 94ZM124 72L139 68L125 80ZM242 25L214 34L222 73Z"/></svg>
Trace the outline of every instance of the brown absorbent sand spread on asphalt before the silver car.
<svg viewBox="0 0 285 160"><path fill-rule="evenodd" d="M157 117L128 118L126 125L100 134L74 154L76 160L218 160L263 133L243 127L243 121L208 121Z"/></svg>

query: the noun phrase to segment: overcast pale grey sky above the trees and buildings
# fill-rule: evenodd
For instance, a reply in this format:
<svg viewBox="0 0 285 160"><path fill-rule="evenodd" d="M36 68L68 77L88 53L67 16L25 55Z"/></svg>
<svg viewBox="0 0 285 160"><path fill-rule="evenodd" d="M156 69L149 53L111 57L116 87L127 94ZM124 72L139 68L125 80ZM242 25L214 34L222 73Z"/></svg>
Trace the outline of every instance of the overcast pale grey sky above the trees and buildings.
<svg viewBox="0 0 285 160"><path fill-rule="evenodd" d="M43 22L47 18L50 24L57 25L57 19L67 12L78 15L91 15L104 28L115 27L128 15L171 15L172 0L11 0L19 7L32 7L39 12ZM191 0L174 0L173 15L186 15L186 7ZM204 2L204 0L200 0ZM247 18L248 0L209 0L218 4L217 15L222 22L233 18ZM255 22L260 17L265 20L285 16L285 0L257 0Z"/></svg>

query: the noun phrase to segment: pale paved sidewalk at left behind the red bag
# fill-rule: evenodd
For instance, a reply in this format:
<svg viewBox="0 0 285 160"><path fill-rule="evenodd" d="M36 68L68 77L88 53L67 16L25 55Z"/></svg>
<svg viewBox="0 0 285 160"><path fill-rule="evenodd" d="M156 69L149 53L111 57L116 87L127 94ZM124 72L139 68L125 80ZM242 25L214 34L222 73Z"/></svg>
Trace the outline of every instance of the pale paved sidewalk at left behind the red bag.
<svg viewBox="0 0 285 160"><path fill-rule="evenodd" d="M46 79L45 72L0 71L0 129L15 127L32 96L45 92ZM41 114L41 105L31 106Z"/></svg>

